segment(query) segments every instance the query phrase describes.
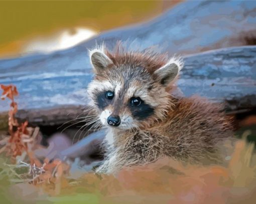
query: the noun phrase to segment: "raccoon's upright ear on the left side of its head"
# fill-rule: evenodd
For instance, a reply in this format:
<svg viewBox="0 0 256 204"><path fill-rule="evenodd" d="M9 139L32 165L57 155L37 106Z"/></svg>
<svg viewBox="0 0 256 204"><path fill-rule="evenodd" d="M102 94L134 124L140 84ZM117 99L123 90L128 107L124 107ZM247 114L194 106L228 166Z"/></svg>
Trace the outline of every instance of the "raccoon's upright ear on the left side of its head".
<svg viewBox="0 0 256 204"><path fill-rule="evenodd" d="M89 53L91 64L95 73L99 73L102 71L102 69L113 63L102 50L95 49L89 51Z"/></svg>

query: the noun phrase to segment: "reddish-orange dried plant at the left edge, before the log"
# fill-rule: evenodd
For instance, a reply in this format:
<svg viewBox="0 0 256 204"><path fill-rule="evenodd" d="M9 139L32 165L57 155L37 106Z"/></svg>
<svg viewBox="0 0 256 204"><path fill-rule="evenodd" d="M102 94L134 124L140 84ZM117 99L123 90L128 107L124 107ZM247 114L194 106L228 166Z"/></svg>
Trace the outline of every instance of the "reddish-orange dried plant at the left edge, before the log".
<svg viewBox="0 0 256 204"><path fill-rule="evenodd" d="M6 145L0 149L0 153L6 151L7 155L11 155L13 162L17 162L17 156L21 156L25 153L28 156L30 163L28 164L24 161L20 161L22 165L25 164L25 166L29 168L29 172L24 178L28 178L29 183L41 186L52 194L58 194L63 174L68 172L69 165L59 160L49 162L47 158L42 164L42 162L34 156L33 147L36 143L35 141L39 133L39 128L28 127L28 121L19 124L16 118L18 104L15 102L15 97L19 94L16 86L1 85L1 88L3 90L1 99L5 100L6 98L9 98L11 104L8 112L9 136L3 139L5 140Z"/></svg>

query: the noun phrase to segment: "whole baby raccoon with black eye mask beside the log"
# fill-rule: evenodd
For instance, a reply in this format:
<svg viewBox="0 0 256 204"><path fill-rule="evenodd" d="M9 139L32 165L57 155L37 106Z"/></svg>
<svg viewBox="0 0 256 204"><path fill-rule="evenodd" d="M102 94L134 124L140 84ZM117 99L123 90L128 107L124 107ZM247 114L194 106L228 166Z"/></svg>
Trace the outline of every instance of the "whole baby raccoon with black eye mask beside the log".
<svg viewBox="0 0 256 204"><path fill-rule="evenodd" d="M155 53L90 51L95 73L88 86L93 109L106 128L105 160L98 172L143 165L162 156L198 162L232 135L221 108L198 97L171 93L183 67Z"/></svg>

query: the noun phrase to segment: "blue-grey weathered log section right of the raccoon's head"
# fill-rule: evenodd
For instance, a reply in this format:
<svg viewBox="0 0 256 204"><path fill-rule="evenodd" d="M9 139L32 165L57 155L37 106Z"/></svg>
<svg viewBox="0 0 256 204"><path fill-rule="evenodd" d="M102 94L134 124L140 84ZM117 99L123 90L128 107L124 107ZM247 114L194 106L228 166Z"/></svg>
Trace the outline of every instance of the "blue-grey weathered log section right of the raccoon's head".
<svg viewBox="0 0 256 204"><path fill-rule="evenodd" d="M256 107L256 46L225 48L185 57L178 86L185 96L198 94L226 102L227 110Z"/></svg>

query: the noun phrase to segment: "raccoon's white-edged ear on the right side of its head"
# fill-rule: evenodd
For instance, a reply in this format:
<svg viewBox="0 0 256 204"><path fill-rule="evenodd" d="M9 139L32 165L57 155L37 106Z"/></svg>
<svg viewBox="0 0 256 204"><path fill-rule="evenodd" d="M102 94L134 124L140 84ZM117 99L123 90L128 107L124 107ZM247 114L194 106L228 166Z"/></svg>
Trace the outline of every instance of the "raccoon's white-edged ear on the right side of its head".
<svg viewBox="0 0 256 204"><path fill-rule="evenodd" d="M181 59L172 58L166 65L157 69L154 74L157 75L157 79L161 84L168 86L179 74L183 64Z"/></svg>

